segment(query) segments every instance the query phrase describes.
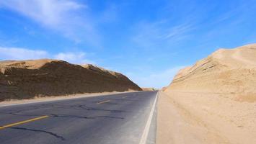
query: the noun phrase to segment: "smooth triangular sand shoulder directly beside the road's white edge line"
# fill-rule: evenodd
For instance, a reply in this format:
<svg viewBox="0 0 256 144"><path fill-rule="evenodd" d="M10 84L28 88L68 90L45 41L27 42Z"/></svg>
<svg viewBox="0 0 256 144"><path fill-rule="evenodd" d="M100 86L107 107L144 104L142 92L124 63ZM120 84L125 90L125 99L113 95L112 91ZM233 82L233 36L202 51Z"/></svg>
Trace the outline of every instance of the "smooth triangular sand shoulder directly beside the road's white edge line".
<svg viewBox="0 0 256 144"><path fill-rule="evenodd" d="M172 96L159 92L156 144L223 143Z"/></svg>

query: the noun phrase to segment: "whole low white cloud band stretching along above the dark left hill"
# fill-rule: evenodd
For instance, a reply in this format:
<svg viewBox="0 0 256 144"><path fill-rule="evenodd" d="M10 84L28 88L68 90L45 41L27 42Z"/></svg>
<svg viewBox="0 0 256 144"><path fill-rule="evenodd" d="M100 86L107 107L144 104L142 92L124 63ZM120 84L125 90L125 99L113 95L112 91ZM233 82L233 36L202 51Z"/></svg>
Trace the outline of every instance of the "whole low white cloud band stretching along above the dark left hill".
<svg viewBox="0 0 256 144"><path fill-rule="evenodd" d="M48 53L45 50L30 50L27 48L2 48L0 47L0 60L31 60L40 58L53 58L66 60L69 63L84 64L95 63L87 58L84 52Z"/></svg>

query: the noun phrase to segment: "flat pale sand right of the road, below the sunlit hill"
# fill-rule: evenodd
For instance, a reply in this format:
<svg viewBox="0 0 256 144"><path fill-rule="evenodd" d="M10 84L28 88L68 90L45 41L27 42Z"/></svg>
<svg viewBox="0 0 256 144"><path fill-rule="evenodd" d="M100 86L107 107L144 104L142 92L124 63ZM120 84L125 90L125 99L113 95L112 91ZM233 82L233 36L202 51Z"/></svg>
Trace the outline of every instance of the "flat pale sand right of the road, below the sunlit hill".
<svg viewBox="0 0 256 144"><path fill-rule="evenodd" d="M159 94L157 144L256 143L256 104L228 94Z"/></svg>

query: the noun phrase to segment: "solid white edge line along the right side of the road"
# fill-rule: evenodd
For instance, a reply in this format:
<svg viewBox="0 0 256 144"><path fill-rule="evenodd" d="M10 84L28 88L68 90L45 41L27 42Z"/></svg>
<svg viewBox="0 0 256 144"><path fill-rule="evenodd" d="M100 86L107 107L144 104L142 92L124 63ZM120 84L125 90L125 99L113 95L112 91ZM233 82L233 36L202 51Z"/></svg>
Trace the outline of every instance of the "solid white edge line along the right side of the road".
<svg viewBox="0 0 256 144"><path fill-rule="evenodd" d="M156 99L158 97L158 94L159 94L159 91L157 91L157 94L156 94ZM148 121L146 122L146 126L144 128L144 132L141 136L141 141L139 144L146 144L146 140L148 138L148 135L149 135L149 128L150 128L150 125L151 125L151 121L152 121L152 118L153 118L153 114L154 114L154 108L156 107L156 99L154 99L154 104L153 104L153 107L151 109L151 112L149 114L149 119Z"/></svg>

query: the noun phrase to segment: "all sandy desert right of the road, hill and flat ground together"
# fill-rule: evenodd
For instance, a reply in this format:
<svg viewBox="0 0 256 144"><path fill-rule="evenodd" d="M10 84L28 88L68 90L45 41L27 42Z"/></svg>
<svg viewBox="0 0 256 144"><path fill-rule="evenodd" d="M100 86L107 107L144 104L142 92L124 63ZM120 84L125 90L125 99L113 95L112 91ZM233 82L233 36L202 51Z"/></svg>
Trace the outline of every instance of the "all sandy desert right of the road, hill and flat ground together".
<svg viewBox="0 0 256 144"><path fill-rule="evenodd" d="M256 44L219 49L162 90L157 143L256 143Z"/></svg>

